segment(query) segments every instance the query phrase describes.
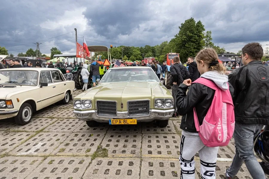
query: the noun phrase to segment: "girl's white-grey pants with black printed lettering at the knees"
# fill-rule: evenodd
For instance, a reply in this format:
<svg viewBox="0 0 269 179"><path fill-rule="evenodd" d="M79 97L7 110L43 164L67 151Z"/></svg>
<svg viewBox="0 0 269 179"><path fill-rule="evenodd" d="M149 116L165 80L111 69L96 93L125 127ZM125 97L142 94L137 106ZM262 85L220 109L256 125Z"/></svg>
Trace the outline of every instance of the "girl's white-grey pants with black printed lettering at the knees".
<svg viewBox="0 0 269 179"><path fill-rule="evenodd" d="M195 179L194 155L199 152L202 179L215 179L218 147L207 147L198 133L182 132L180 144L180 165L182 179Z"/></svg>

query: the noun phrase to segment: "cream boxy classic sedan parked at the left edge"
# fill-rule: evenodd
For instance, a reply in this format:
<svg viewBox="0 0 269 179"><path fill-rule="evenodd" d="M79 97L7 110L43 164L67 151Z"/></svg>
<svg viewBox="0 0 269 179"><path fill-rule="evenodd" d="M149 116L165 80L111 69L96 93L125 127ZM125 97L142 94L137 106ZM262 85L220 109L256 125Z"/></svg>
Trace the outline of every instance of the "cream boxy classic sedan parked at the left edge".
<svg viewBox="0 0 269 179"><path fill-rule="evenodd" d="M54 68L0 70L0 119L15 117L16 124L30 122L33 112L72 99L74 81L66 81Z"/></svg>

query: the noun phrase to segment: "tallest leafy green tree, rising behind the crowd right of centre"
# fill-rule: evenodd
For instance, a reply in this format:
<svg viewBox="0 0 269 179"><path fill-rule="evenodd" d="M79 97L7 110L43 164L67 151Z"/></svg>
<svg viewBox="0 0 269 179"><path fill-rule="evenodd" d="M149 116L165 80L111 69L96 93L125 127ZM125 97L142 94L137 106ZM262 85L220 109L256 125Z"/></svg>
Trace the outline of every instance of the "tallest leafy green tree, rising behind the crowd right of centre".
<svg viewBox="0 0 269 179"><path fill-rule="evenodd" d="M180 53L181 62L185 63L189 56L195 56L204 47L204 25L194 18L187 19L179 27L175 35L176 52Z"/></svg>

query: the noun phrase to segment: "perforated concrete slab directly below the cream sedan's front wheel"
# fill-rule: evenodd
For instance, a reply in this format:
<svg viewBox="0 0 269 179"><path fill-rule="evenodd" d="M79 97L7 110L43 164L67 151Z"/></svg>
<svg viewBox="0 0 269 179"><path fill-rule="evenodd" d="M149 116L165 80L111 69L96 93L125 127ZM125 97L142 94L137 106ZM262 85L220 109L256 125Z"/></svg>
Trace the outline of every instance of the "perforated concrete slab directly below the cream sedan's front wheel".
<svg viewBox="0 0 269 179"><path fill-rule="evenodd" d="M47 127L48 125L50 125L51 123L53 123L56 120L58 120L58 119L32 118L30 123L28 123L24 126L16 125L11 129L12 130L36 132L36 131L43 129L44 127Z"/></svg>

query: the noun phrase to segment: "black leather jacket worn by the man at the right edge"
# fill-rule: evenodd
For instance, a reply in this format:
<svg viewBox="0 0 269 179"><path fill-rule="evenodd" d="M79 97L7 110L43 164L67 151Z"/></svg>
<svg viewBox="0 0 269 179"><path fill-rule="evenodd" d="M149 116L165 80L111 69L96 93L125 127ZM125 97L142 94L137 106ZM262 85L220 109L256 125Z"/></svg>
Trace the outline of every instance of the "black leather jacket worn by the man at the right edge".
<svg viewBox="0 0 269 179"><path fill-rule="evenodd" d="M235 89L235 120L269 125L269 68L261 61L251 61L231 72L229 82Z"/></svg>

